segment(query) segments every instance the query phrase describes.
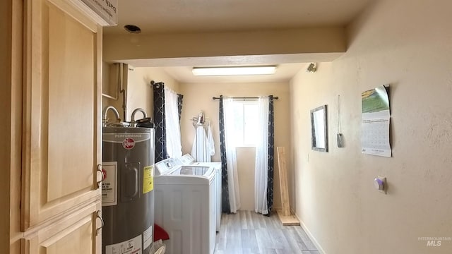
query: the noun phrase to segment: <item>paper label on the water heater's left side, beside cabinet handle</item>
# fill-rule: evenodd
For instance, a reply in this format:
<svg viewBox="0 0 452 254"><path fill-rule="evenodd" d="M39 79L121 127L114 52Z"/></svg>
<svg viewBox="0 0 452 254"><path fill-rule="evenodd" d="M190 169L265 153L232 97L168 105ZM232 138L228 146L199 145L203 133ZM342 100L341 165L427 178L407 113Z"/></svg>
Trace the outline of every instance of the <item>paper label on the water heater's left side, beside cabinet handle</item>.
<svg viewBox="0 0 452 254"><path fill-rule="evenodd" d="M117 162L102 162L102 206L117 205Z"/></svg>

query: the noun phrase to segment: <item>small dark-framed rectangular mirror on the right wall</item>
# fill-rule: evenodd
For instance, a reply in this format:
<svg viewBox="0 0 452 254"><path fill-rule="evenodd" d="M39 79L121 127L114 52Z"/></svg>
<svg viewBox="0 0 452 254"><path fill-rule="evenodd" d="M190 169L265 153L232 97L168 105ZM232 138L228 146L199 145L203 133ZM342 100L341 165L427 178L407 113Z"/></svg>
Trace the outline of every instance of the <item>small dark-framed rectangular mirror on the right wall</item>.
<svg viewBox="0 0 452 254"><path fill-rule="evenodd" d="M311 109L311 145L312 150L328 152L326 105Z"/></svg>

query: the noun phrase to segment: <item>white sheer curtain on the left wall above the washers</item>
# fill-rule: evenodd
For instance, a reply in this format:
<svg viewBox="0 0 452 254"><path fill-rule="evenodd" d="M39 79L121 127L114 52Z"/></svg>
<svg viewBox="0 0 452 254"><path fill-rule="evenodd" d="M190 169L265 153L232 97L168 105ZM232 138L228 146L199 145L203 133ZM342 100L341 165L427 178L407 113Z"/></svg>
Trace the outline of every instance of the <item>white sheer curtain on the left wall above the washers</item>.
<svg viewBox="0 0 452 254"><path fill-rule="evenodd" d="M177 93L167 87L165 87L165 133L168 156L171 158L181 157L181 128L177 108Z"/></svg>

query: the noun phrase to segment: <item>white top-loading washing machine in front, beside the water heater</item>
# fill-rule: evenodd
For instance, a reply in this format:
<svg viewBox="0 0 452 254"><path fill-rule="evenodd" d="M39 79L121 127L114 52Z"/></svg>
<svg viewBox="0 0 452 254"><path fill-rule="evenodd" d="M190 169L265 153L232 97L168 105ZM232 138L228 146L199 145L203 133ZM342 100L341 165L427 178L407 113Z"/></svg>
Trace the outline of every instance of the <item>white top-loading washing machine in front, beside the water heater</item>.
<svg viewBox="0 0 452 254"><path fill-rule="evenodd" d="M169 254L213 254L215 170L169 158L155 164L155 224L169 234Z"/></svg>

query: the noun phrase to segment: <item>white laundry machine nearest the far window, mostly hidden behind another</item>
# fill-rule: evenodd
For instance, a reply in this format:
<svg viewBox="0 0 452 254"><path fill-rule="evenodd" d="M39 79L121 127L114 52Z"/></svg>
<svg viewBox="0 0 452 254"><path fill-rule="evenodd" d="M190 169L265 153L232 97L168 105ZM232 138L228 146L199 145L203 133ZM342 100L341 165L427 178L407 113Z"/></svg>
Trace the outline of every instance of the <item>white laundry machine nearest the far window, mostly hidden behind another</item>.
<svg viewBox="0 0 452 254"><path fill-rule="evenodd" d="M221 162L195 162L195 158L189 154L186 154L178 158L182 165L196 165L213 167L215 169L215 217L216 217L216 231L220 232L221 225L221 213L222 213L222 177L221 177Z"/></svg>

